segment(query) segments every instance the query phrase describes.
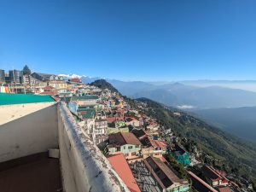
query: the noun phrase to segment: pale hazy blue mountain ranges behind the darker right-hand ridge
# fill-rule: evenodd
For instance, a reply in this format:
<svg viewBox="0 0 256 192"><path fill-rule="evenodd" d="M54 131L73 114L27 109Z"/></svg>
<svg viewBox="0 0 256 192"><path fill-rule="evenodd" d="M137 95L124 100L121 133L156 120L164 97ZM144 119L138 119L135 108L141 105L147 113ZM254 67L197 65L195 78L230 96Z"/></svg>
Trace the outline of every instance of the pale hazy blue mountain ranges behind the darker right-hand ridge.
<svg viewBox="0 0 256 192"><path fill-rule="evenodd" d="M84 83L101 78L82 76ZM131 98L147 97L175 108L240 108L256 106L256 92L212 84L256 84L256 81L183 81L183 83L120 81L106 79ZM215 82L215 83L214 83ZM197 85L196 85L197 84ZM206 84L210 84L207 86ZM235 86L235 85L234 85Z"/></svg>

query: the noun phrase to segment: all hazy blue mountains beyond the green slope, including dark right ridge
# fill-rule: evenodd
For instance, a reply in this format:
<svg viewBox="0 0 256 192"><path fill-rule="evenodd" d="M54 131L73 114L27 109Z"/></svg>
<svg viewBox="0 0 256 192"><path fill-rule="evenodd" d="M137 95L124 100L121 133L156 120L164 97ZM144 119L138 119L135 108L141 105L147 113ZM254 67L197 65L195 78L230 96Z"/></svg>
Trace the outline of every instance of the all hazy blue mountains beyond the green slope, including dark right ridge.
<svg viewBox="0 0 256 192"><path fill-rule="evenodd" d="M86 83L94 80L88 77L82 77L82 79ZM146 97L174 108L192 110L199 118L211 125L238 137L255 141L256 93L253 91L213 85L206 87L192 85L193 82L195 84L199 82L200 84L213 84L215 82L207 80L192 81L189 84L188 81L183 83L147 83L143 81L107 80L125 96L131 98ZM218 83L231 84L232 82L218 81ZM248 83L253 84L255 82L250 81Z"/></svg>

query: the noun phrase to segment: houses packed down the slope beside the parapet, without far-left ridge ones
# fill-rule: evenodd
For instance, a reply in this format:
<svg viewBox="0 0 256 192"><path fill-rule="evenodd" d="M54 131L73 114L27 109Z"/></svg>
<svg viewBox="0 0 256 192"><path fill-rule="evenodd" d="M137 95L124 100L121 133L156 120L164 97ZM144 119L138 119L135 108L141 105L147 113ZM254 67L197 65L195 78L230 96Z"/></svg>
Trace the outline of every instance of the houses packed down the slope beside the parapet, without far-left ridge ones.
<svg viewBox="0 0 256 192"><path fill-rule="evenodd" d="M164 135L171 138L171 143L160 137L162 128L157 119L131 108L119 93L76 81L67 81L73 84L71 95L55 96L67 102L78 124L102 149L131 191L236 191L231 187L233 183L211 166L201 166L200 174L189 170L189 153L170 129L165 129ZM143 105L138 103L139 108L146 108ZM188 167L189 179L180 178L166 155Z"/></svg>

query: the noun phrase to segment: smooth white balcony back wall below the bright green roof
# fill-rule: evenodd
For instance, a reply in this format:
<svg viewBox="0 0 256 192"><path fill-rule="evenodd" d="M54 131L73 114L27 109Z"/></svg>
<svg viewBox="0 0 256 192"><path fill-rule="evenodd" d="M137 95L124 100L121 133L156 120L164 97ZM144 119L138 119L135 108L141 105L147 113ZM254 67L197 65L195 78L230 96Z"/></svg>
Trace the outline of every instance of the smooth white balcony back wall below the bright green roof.
<svg viewBox="0 0 256 192"><path fill-rule="evenodd" d="M36 110L33 108L32 113L26 113L26 107L31 110L32 105ZM24 113L20 113L22 111L20 108ZM46 152L48 148L58 148L55 103L44 104L40 108L37 103L27 106L26 104L5 106L0 108L0 115L4 114L5 110L12 111L13 113L10 114L14 119L3 125L0 124L0 162Z"/></svg>

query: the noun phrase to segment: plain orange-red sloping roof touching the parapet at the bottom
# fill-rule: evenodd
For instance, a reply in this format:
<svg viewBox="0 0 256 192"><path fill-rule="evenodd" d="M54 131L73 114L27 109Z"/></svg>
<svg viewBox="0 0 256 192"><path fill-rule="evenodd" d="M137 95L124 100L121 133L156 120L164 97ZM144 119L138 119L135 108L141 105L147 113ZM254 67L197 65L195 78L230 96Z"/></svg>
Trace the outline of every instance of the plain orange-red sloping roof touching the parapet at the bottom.
<svg viewBox="0 0 256 192"><path fill-rule="evenodd" d="M124 154L117 154L108 157L110 164L113 166L115 172L119 174L119 177L124 181L128 189L132 192L140 192L137 182L132 175L131 169L125 160Z"/></svg>

